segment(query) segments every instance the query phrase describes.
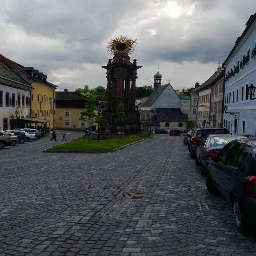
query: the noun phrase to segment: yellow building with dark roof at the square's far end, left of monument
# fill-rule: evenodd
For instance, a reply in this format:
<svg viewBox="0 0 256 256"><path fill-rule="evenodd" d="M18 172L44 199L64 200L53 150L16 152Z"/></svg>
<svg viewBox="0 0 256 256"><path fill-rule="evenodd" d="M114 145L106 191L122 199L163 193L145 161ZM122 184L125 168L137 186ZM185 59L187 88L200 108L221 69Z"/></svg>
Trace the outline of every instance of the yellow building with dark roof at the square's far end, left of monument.
<svg viewBox="0 0 256 256"><path fill-rule="evenodd" d="M86 97L74 91L56 91L56 128L85 129L87 121L79 120L84 110Z"/></svg>

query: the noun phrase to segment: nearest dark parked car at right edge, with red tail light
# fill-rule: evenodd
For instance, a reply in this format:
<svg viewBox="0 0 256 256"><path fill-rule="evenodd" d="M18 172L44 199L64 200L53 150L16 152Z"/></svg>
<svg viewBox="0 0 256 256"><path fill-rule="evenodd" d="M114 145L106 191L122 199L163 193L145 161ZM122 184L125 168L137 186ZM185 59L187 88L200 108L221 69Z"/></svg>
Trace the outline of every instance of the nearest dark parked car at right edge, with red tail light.
<svg viewBox="0 0 256 256"><path fill-rule="evenodd" d="M210 160L207 190L231 201L238 230L247 232L256 224L256 137L233 140L215 158L203 157Z"/></svg>

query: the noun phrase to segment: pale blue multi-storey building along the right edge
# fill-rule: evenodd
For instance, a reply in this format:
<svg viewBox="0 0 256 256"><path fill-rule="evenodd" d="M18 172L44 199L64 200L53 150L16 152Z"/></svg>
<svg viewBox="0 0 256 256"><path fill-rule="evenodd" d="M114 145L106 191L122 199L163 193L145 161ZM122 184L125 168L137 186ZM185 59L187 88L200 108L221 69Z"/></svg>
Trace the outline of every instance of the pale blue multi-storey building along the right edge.
<svg viewBox="0 0 256 256"><path fill-rule="evenodd" d="M232 133L256 135L256 100L250 100L248 95L248 87L256 86L256 14L246 25L224 62L224 105L228 108L224 113L224 126Z"/></svg>

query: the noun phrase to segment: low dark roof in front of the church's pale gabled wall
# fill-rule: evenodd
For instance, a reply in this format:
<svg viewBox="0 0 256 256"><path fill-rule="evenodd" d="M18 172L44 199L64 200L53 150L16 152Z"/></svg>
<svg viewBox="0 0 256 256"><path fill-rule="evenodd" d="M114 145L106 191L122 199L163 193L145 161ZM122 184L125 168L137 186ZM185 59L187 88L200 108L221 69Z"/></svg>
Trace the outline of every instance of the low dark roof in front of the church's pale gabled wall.
<svg viewBox="0 0 256 256"><path fill-rule="evenodd" d="M187 122L188 115L181 109L156 108L155 114L158 122Z"/></svg>

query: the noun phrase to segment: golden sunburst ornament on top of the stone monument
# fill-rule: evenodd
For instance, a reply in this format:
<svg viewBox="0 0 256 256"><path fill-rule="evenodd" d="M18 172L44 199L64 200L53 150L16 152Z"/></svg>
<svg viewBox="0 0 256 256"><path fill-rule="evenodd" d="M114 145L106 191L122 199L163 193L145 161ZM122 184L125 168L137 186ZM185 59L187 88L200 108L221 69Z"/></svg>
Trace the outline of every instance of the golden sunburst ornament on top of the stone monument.
<svg viewBox="0 0 256 256"><path fill-rule="evenodd" d="M119 36L110 39L108 42L108 51L115 55L115 54L123 54L128 55L134 51L134 44L136 40L132 40L130 37L127 36Z"/></svg>

